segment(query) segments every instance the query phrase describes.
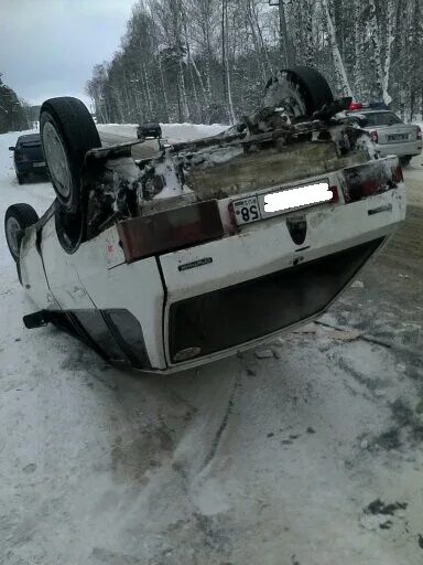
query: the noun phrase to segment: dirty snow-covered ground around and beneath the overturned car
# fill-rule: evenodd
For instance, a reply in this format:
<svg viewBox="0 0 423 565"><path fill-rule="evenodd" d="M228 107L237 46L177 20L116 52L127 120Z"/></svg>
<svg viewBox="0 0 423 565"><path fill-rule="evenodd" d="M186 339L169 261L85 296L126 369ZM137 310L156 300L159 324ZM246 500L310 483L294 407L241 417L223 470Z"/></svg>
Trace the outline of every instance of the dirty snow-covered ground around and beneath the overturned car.
<svg viewBox="0 0 423 565"><path fill-rule="evenodd" d="M17 184L15 137L0 136L1 216L53 199ZM421 162L405 226L323 324L171 377L24 330L1 231L0 564L420 563Z"/></svg>

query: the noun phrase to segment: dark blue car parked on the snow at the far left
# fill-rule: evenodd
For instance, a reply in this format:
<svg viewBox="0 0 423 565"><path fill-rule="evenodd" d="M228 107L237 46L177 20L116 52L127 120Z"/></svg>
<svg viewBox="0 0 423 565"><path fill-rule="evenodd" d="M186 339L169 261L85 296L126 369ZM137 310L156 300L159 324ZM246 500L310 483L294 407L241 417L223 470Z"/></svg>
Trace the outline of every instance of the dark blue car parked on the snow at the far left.
<svg viewBox="0 0 423 565"><path fill-rule="evenodd" d="M20 136L17 145L9 147L9 150L13 151L13 163L19 184L22 184L31 175L47 177L48 169L41 147L40 134Z"/></svg>

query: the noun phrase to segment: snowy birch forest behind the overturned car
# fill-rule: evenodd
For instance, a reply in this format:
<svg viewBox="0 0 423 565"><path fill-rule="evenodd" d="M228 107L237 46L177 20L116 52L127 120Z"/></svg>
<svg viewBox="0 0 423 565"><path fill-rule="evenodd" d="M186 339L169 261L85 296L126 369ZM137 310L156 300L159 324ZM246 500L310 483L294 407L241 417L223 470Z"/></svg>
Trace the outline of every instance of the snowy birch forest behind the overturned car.
<svg viewBox="0 0 423 565"><path fill-rule="evenodd" d="M275 4L275 6L274 6ZM312 65L337 94L422 116L422 0L140 0L87 83L99 122L228 122L276 70Z"/></svg>

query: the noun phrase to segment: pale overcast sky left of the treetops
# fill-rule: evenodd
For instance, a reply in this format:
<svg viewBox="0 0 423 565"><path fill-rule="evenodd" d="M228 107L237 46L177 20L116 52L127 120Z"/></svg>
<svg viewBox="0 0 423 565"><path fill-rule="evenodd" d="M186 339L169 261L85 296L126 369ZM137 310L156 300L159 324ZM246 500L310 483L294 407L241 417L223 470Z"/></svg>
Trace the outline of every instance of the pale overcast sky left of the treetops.
<svg viewBox="0 0 423 565"><path fill-rule="evenodd" d="M87 104L93 66L120 45L135 0L0 0L0 73L19 97Z"/></svg>

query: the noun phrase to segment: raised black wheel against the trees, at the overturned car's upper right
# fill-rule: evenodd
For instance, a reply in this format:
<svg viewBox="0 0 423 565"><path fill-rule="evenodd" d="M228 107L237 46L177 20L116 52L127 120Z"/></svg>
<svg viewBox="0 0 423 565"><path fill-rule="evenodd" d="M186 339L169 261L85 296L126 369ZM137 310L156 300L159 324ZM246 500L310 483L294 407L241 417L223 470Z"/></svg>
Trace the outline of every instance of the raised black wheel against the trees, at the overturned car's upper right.
<svg viewBox="0 0 423 565"><path fill-rule="evenodd" d="M295 117L310 117L332 102L334 95L326 78L306 66L282 68L268 81L264 88L265 106L286 106L288 113Z"/></svg>

